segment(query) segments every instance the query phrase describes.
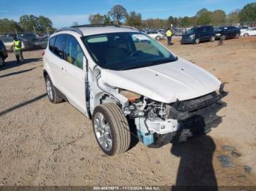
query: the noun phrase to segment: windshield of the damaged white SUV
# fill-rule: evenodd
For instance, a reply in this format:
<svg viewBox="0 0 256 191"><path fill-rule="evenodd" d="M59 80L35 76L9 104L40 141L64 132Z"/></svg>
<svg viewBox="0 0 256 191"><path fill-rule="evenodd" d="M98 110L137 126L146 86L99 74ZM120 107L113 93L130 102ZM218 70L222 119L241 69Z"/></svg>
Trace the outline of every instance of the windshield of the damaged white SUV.
<svg viewBox="0 0 256 191"><path fill-rule="evenodd" d="M141 33L84 36L83 42L94 61L104 69L138 69L177 59L154 39Z"/></svg>

